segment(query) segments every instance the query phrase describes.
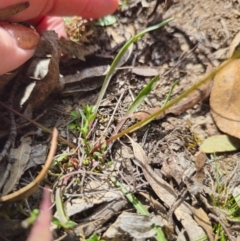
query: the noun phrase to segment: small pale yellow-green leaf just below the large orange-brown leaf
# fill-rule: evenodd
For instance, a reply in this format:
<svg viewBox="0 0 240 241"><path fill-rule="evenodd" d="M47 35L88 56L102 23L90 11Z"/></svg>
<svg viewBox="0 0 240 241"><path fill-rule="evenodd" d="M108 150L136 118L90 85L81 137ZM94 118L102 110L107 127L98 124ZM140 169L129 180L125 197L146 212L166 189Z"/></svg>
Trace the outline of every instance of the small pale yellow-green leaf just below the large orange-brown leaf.
<svg viewBox="0 0 240 241"><path fill-rule="evenodd" d="M205 153L236 151L240 149L240 140L228 135L211 136L203 141L200 149Z"/></svg>

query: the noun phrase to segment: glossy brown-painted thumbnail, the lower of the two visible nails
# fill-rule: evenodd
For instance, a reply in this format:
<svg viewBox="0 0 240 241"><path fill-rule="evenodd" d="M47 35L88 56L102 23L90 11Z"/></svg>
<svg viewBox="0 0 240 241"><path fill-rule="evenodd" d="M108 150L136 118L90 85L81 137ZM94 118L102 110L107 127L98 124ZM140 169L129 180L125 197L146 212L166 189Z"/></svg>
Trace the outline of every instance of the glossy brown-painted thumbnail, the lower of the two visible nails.
<svg viewBox="0 0 240 241"><path fill-rule="evenodd" d="M0 23L0 27L5 29L16 40L17 46L21 49L34 49L40 41L39 34L31 28L5 22Z"/></svg>

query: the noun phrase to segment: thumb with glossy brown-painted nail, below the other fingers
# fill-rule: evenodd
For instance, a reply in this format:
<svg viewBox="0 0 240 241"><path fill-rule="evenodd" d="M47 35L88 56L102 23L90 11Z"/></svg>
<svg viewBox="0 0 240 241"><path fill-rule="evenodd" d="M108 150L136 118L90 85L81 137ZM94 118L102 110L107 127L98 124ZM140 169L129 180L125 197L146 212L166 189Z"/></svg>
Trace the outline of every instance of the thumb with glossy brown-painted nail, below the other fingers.
<svg viewBox="0 0 240 241"><path fill-rule="evenodd" d="M0 23L0 75L16 69L34 54L40 36L22 25Z"/></svg>

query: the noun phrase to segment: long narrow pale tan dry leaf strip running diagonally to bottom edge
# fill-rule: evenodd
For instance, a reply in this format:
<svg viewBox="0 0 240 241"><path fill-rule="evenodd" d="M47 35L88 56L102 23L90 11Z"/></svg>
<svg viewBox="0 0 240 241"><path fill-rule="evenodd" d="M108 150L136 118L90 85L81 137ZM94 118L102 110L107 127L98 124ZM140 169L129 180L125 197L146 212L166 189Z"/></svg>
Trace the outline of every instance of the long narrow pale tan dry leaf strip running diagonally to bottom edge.
<svg viewBox="0 0 240 241"><path fill-rule="evenodd" d="M138 143L134 142L130 137L129 139L134 151L134 163L142 168L146 180L165 206L172 207L177 198L173 188L152 170L151 166L148 164L148 158L142 147ZM192 218L192 211L187 208L184 203L180 204L175 209L174 214L185 228L190 240L197 240L205 235L203 229L199 227Z"/></svg>

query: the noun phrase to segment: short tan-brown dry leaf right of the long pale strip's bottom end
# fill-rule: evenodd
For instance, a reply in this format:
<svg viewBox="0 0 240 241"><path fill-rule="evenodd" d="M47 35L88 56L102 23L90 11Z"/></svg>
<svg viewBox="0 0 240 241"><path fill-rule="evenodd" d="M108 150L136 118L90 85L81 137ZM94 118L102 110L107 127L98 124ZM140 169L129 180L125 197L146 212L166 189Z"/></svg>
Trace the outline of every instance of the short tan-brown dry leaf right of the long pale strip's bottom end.
<svg viewBox="0 0 240 241"><path fill-rule="evenodd" d="M205 230L209 240L214 241L214 237L212 234L212 225L208 215L205 213L205 211L202 208L192 207L192 209L194 210L194 219Z"/></svg>

